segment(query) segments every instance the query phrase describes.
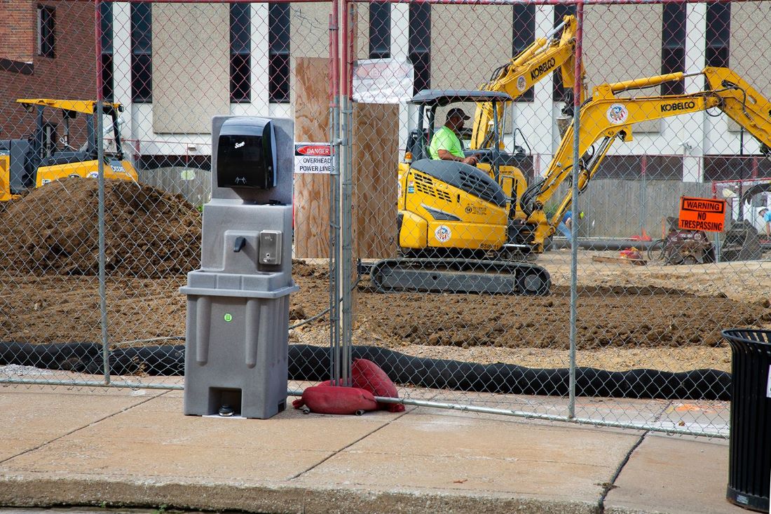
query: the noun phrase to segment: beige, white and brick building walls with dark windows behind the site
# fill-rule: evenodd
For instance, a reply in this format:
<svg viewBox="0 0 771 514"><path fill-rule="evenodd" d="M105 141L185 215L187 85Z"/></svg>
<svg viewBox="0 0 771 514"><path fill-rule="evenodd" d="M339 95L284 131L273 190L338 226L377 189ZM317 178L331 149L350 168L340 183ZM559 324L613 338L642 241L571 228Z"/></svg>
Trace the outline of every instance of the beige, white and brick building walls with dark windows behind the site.
<svg viewBox="0 0 771 514"><path fill-rule="evenodd" d="M50 96L51 90L59 97L92 96L93 5L19 0L0 6L5 9L0 36L12 42L3 45L0 56L5 125L24 127L9 107L16 97ZM123 136L140 164L206 167L214 114L292 117L298 101L295 59L328 56L329 8L326 2L103 3L103 94L126 106ZM46 9L52 17L46 18ZM60 15L65 9L67 15ZM355 4L355 58L409 61L416 91L473 89L571 9ZM684 83L641 94L695 92L704 85L697 75L701 69L729 66L771 97L769 20L771 0L587 6L589 90L604 82L685 71L694 75ZM54 36L50 48L49 32ZM555 73L507 113L507 145L527 147L535 173L544 171L560 143L556 119L563 106L564 90ZM406 104L401 113L403 144L412 113ZM715 113L695 113L640 123L634 140L614 145L600 176L712 181L771 174L758 156L758 143L736 123Z"/></svg>

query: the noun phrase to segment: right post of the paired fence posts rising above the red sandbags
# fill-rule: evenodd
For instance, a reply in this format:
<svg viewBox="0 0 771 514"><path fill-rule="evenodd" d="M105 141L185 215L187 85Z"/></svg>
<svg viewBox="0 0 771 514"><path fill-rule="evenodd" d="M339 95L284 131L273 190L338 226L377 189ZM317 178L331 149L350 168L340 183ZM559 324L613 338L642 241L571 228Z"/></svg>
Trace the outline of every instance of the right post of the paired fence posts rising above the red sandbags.
<svg viewBox="0 0 771 514"><path fill-rule="evenodd" d="M342 79L344 94L342 95L342 139L345 141L345 150L343 152L344 160L342 167L342 378L346 385L351 380L351 352L353 336L353 309L352 309L352 264L353 264L353 102L352 102L352 59L353 59L353 15L354 4L345 0L345 18L343 25L344 45L344 76Z"/></svg>

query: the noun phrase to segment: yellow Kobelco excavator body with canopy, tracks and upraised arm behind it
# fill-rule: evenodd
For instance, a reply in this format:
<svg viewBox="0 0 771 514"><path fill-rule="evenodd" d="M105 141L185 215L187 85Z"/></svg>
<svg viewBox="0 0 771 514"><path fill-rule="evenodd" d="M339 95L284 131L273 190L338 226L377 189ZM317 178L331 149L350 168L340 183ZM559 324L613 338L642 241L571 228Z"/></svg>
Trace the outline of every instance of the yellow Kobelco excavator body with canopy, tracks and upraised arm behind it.
<svg viewBox="0 0 771 514"><path fill-rule="evenodd" d="M405 159L399 163L400 256L378 262L372 269L360 268L370 273L379 289L527 294L548 290L546 270L524 262L520 249L504 248L505 233L493 234L490 226L507 225L507 213L521 210L514 204L527 187L520 167L528 156L516 145L513 154L504 151L506 107L556 69L561 69L564 86L572 90L576 29L575 16L565 16L547 36L496 69L481 90L424 90L412 99L419 111L417 128L410 132ZM476 103L469 145L470 153L480 157L476 167L427 159L436 110L456 102ZM443 185L434 188L434 180ZM449 184L463 191L456 194L453 208L421 200L425 194L449 201L453 191L444 191ZM463 229L453 231L456 223ZM459 266L464 271L453 273Z"/></svg>

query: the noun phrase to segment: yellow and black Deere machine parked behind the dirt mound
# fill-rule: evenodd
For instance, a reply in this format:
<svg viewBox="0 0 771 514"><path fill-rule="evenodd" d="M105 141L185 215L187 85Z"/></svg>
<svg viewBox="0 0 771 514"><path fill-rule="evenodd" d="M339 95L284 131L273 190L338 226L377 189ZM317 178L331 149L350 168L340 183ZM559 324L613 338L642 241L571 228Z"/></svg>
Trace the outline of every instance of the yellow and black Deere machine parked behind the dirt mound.
<svg viewBox="0 0 771 514"><path fill-rule="evenodd" d="M94 122L96 102L42 98L16 102L28 111L35 111L35 129L24 139L0 140L0 202L17 198L29 189L59 178L99 176ZM122 111L120 103L103 103L103 113L109 117L105 119L112 125L112 137L106 138L110 147L104 151L104 177L136 181L136 170L124 160L121 147L118 116ZM85 142L76 142L70 134L70 123L79 114L85 117ZM61 138L58 137L60 123Z"/></svg>

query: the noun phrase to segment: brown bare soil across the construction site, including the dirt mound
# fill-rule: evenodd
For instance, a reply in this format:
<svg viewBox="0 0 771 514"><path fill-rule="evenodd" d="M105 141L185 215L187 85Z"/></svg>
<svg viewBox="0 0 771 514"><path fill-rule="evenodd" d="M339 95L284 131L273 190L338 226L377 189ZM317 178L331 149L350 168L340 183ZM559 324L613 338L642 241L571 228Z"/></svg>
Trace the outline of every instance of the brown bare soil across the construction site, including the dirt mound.
<svg viewBox="0 0 771 514"><path fill-rule="evenodd" d="M99 341L96 181L49 184L0 213L0 340ZM59 189L57 189L59 188ZM69 191L72 190L72 191ZM73 195L76 201L72 201ZM184 273L198 265L200 215L180 198L136 184L109 184L106 289L113 345L180 343ZM729 327L771 328L771 262L632 266L579 252L577 360L608 370L730 370L720 336ZM602 255L616 255L607 252ZM564 367L570 341L570 254L539 264L550 296L355 293L355 344L420 357ZM291 323L328 307L324 262L295 262L301 292ZM291 343L325 346L328 316L290 330Z"/></svg>

